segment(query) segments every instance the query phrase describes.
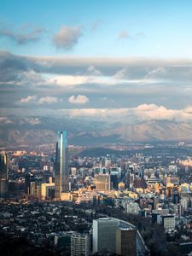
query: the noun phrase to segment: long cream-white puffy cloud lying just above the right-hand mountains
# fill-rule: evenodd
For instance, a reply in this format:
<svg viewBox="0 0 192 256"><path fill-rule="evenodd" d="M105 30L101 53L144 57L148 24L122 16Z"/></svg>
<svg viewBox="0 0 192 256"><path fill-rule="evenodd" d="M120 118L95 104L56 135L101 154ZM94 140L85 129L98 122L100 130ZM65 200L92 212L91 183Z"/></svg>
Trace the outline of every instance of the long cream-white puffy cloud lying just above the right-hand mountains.
<svg viewBox="0 0 192 256"><path fill-rule="evenodd" d="M62 109L62 112L73 118L98 118L102 120L129 123L166 120L175 122L192 122L192 106L183 109L172 109L156 104L141 104L135 108L73 108Z"/></svg>

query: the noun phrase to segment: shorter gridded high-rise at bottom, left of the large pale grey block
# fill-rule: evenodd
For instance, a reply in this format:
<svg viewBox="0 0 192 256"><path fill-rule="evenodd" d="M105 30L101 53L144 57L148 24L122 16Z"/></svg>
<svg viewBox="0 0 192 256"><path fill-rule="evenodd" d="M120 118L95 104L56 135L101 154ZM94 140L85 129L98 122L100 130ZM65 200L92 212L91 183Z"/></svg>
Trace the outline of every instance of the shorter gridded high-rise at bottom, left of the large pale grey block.
<svg viewBox="0 0 192 256"><path fill-rule="evenodd" d="M71 236L71 256L89 256L90 247L90 235L75 233Z"/></svg>

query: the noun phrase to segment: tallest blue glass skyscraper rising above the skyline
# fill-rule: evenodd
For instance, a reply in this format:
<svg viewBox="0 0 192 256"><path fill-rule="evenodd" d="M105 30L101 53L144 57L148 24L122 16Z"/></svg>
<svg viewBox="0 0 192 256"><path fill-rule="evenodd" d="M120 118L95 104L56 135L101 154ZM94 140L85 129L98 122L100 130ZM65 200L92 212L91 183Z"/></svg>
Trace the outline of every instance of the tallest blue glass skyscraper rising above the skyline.
<svg viewBox="0 0 192 256"><path fill-rule="evenodd" d="M67 193L68 184L68 142L67 131L58 131L55 156L55 198L61 199L61 193Z"/></svg>

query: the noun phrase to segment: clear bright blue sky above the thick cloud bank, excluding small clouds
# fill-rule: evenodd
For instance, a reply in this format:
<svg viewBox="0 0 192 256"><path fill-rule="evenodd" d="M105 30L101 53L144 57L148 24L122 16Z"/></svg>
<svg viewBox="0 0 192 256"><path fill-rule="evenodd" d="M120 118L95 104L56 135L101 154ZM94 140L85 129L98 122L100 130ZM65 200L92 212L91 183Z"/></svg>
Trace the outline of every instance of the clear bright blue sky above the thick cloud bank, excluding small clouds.
<svg viewBox="0 0 192 256"><path fill-rule="evenodd" d="M0 2L0 20L13 30L42 28L35 44L18 45L1 38L0 47L20 55L96 55L190 57L191 1L7 1ZM61 26L79 27L73 50L55 49ZM95 29L93 29L95 27ZM119 38L120 33L127 37Z"/></svg>

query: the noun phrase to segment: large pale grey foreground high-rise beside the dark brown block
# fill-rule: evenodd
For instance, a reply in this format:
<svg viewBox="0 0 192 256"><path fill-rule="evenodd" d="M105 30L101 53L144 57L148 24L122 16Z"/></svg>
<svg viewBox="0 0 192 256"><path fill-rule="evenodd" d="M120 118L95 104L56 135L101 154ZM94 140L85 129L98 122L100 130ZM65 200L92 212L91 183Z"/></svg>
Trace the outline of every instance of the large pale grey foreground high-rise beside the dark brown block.
<svg viewBox="0 0 192 256"><path fill-rule="evenodd" d="M113 218L99 218L93 220L93 253L103 250L116 252L116 230L119 220Z"/></svg>

